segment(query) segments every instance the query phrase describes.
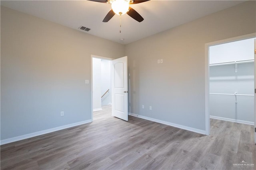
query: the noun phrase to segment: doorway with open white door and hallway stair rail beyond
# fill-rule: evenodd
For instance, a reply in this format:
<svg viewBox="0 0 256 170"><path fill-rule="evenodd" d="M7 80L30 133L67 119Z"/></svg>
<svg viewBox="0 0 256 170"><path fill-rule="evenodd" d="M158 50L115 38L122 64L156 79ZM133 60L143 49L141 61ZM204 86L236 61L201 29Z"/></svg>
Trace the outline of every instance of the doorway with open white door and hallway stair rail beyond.
<svg viewBox="0 0 256 170"><path fill-rule="evenodd" d="M92 121L93 112L102 110L102 104L111 104L112 116L128 121L127 56L112 59L91 55L91 73Z"/></svg>

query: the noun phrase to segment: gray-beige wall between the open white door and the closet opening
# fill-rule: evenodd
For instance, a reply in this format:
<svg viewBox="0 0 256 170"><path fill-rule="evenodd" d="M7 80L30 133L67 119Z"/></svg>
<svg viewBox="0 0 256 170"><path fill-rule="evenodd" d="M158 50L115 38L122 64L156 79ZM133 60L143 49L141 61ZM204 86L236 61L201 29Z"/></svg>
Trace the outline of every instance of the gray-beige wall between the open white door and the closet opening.
<svg viewBox="0 0 256 170"><path fill-rule="evenodd" d="M248 1L126 45L129 111L205 130L204 45L256 32L255 9Z"/></svg>

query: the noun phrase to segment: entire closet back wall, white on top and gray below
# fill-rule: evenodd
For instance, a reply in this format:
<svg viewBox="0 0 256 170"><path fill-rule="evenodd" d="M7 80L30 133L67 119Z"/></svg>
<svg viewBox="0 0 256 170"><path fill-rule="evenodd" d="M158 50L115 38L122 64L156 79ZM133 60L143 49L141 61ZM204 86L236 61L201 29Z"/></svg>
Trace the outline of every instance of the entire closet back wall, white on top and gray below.
<svg viewBox="0 0 256 170"><path fill-rule="evenodd" d="M211 118L254 125L253 49L254 39L210 47Z"/></svg>

